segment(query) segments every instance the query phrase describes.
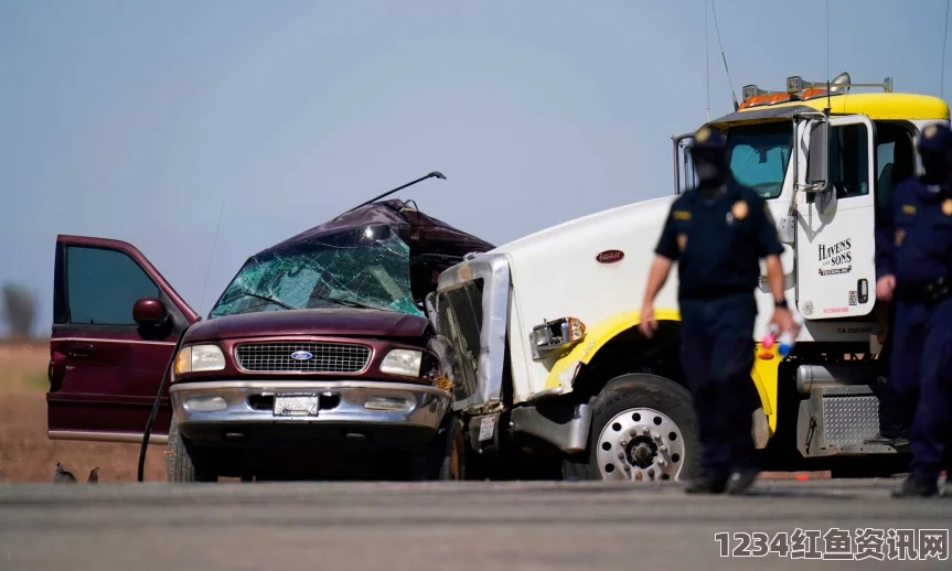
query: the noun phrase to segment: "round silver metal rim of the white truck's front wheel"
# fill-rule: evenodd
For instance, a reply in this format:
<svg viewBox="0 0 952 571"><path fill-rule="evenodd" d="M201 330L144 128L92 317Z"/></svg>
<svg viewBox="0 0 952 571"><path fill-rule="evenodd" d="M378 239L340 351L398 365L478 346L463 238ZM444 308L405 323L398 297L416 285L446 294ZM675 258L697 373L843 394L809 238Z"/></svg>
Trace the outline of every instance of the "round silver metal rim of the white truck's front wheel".
<svg viewBox="0 0 952 571"><path fill-rule="evenodd" d="M609 481L677 481L685 464L677 423L650 408L616 414L601 429L596 450L601 477Z"/></svg>

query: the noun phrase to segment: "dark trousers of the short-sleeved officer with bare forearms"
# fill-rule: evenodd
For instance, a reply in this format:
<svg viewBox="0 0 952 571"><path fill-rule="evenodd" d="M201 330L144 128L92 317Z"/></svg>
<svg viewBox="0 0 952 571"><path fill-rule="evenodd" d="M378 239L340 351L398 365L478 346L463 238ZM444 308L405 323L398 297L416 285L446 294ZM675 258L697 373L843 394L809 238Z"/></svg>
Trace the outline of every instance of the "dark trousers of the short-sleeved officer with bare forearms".
<svg viewBox="0 0 952 571"><path fill-rule="evenodd" d="M682 299L678 304L681 363L697 412L702 475L717 478L752 468L753 294Z"/></svg>

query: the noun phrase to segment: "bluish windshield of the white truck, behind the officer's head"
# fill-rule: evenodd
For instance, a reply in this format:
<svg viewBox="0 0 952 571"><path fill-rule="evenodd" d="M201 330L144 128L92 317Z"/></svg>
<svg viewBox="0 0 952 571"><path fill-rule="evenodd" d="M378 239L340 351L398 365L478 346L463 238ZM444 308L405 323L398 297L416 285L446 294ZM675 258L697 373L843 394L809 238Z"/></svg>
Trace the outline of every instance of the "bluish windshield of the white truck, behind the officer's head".
<svg viewBox="0 0 952 571"><path fill-rule="evenodd" d="M727 131L730 172L740 184L766 200L777 198L793 149L793 126L789 121L739 125Z"/></svg>

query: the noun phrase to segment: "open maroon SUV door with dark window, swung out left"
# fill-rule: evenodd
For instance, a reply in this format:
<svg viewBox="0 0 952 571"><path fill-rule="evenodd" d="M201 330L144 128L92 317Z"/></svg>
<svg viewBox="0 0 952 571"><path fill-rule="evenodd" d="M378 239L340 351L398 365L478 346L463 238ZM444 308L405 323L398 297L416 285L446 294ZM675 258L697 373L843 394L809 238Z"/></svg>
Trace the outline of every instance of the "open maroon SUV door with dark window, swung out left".
<svg viewBox="0 0 952 571"><path fill-rule="evenodd" d="M58 236L50 341L49 437L140 442L156 394L186 326L199 315L132 245ZM133 319L133 305L152 321ZM159 315L160 319L156 319ZM168 437L165 396L152 437Z"/></svg>

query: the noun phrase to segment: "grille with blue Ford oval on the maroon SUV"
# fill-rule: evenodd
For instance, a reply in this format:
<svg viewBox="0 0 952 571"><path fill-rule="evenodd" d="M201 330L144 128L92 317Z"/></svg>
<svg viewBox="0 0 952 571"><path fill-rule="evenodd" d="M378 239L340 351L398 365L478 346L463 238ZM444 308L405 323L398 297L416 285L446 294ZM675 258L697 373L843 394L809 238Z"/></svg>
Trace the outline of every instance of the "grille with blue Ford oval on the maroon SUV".
<svg viewBox="0 0 952 571"><path fill-rule="evenodd" d="M243 369L263 373L357 373L366 367L371 348L342 343L246 343L235 347L235 358Z"/></svg>

